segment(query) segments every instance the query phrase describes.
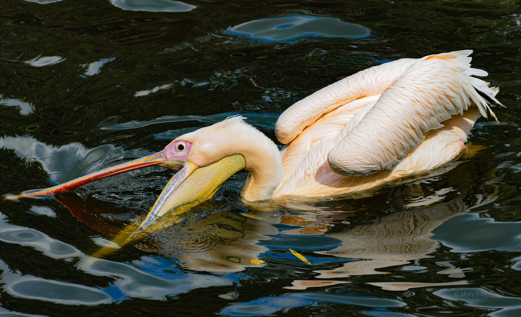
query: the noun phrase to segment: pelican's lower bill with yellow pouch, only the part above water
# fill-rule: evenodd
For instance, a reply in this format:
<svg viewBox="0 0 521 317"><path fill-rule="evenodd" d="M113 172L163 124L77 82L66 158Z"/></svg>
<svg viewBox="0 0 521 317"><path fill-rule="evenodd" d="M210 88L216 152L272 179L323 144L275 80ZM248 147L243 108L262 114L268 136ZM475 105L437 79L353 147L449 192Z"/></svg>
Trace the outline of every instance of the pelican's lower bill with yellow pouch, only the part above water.
<svg viewBox="0 0 521 317"><path fill-rule="evenodd" d="M241 154L229 155L201 168L187 162L170 179L135 233L145 230L168 211L173 212L169 215L180 214L212 198L222 183L244 169L245 165L246 160Z"/></svg>

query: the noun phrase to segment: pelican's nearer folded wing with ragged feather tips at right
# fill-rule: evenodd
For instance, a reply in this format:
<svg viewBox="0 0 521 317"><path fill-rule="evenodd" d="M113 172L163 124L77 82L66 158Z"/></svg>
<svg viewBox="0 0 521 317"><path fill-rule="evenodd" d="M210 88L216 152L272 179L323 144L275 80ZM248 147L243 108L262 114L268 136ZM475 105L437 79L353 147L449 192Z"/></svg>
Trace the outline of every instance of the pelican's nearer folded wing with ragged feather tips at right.
<svg viewBox="0 0 521 317"><path fill-rule="evenodd" d="M441 128L442 121L461 115L472 103L483 117L488 110L495 118L488 101L497 101L495 91L465 74L470 58L462 56L467 53L446 53L454 55L450 58L431 55L411 65L330 151L332 170L346 176L391 170L424 140L426 132Z"/></svg>

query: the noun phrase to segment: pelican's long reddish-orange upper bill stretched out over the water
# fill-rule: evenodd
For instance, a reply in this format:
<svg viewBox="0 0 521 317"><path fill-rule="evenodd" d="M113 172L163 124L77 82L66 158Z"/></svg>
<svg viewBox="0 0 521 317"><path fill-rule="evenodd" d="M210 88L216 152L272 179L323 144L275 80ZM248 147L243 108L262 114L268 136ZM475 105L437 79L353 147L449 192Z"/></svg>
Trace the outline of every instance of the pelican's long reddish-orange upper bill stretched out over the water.
<svg viewBox="0 0 521 317"><path fill-rule="evenodd" d="M43 196L43 195L53 195L55 193L59 192L66 192L70 189L74 189L80 186L83 186L87 183L91 183L97 180L104 179L105 177L121 174L137 169L142 169L145 167L152 167L152 166L159 166L164 168L170 168L173 170L179 170L184 166L185 162L183 161L175 161L175 160L168 160L166 158L166 155L162 152L145 156L137 160L133 160L126 163L121 163L113 167L106 168L104 170L94 172L92 174L79 177L75 180L72 180L70 182L57 185L54 187L49 187L45 189L41 189L39 191L27 191L20 195L8 195L2 199L4 200L10 200L10 199L19 199L22 197L33 197L33 196Z"/></svg>

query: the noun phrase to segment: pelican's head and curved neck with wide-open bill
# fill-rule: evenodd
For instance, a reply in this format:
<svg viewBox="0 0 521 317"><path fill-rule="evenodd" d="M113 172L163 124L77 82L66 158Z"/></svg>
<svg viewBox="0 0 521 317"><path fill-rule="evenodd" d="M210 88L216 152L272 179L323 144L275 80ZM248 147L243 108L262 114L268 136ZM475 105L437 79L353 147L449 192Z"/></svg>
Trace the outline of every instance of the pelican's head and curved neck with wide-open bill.
<svg viewBox="0 0 521 317"><path fill-rule="evenodd" d="M110 175L150 166L178 170L157 198L140 226L140 231L160 215L180 206L193 206L211 198L222 183L234 173L246 169L243 197L263 200L271 197L282 179L282 160L277 146L262 132L245 123L243 117L229 117L194 132L177 137L162 151L131 162L80 177L43 191L8 196L14 199L28 196L52 195ZM193 204L189 204L193 202Z"/></svg>

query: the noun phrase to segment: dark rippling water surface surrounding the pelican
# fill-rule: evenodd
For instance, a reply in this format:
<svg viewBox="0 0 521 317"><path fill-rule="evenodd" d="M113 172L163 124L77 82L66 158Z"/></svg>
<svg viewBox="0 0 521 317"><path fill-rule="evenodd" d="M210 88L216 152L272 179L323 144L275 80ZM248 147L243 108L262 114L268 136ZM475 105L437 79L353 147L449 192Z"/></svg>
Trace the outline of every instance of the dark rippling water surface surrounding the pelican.
<svg viewBox="0 0 521 317"><path fill-rule="evenodd" d="M91 256L148 211L171 171L4 202L0 315L521 315L520 5L0 1L0 195L154 153L237 113L275 141L296 100L404 57L473 49L507 106L430 177L249 211L240 172L103 259Z"/></svg>

